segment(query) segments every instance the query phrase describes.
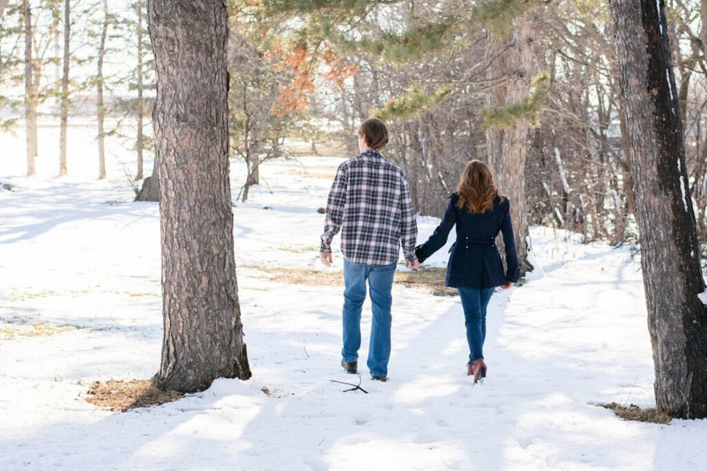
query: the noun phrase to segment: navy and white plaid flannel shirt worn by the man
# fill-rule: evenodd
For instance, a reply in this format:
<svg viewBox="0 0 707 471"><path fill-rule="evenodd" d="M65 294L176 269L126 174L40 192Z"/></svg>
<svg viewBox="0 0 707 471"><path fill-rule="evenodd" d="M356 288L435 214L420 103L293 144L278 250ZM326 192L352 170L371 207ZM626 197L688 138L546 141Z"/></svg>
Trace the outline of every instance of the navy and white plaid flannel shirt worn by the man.
<svg viewBox="0 0 707 471"><path fill-rule="evenodd" d="M347 260L387 265L415 258L417 223L402 169L369 149L337 169L327 200L320 251L332 251L341 229L341 252Z"/></svg>

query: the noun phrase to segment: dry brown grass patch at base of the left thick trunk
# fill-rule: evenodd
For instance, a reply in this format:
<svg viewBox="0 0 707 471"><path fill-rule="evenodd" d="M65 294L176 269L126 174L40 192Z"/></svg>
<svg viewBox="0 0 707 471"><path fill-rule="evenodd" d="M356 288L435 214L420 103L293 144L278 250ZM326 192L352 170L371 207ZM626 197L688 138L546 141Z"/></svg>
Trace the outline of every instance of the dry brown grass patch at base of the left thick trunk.
<svg viewBox="0 0 707 471"><path fill-rule="evenodd" d="M184 393L155 388L149 379L110 380L105 383L95 381L88 388L88 394L86 401L89 403L120 412L137 407L171 403L184 397Z"/></svg>

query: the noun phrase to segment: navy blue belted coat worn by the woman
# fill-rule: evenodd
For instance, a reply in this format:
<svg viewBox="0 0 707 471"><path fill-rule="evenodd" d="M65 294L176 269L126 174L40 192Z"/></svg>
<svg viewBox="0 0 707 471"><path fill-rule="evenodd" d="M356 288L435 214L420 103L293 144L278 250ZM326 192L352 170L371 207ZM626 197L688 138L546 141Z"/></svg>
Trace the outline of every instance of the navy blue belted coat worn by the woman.
<svg viewBox="0 0 707 471"><path fill-rule="evenodd" d="M431 237L415 252L420 263L447 243L452 227L457 226L457 242L450 249L445 285L450 287L490 288L517 282L520 263L515 251L513 226L510 223L508 198L496 198L493 209L486 213L469 213L457 208L459 195L452 194L442 222ZM503 233L508 270L503 273L501 254L496 249L496 236Z"/></svg>

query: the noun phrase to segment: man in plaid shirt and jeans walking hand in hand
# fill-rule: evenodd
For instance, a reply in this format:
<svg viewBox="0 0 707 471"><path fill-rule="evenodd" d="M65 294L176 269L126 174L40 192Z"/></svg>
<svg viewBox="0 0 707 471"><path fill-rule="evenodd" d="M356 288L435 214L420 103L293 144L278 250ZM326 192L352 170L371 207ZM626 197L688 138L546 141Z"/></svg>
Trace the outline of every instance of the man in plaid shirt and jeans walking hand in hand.
<svg viewBox="0 0 707 471"><path fill-rule="evenodd" d="M320 257L332 264L332 238L341 229L344 254L344 348L341 366L358 371L361 347L361 307L370 285L373 323L370 328L368 370L371 378L387 380L390 358L390 305L393 276L402 244L405 266L420 266L415 256L417 224L410 190L402 170L380 151L388 130L379 119L368 119L358 129L361 155L339 165L327 200L327 218Z"/></svg>

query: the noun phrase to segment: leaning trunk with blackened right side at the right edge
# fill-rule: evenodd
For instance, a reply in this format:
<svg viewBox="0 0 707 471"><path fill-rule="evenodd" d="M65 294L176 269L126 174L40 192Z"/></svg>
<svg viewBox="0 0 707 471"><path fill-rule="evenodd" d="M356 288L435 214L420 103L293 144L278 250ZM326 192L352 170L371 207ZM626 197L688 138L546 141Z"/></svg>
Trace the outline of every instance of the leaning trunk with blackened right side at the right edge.
<svg viewBox="0 0 707 471"><path fill-rule="evenodd" d="M707 309L662 0L611 0L633 164L655 402L707 417ZM658 4L658 5L657 5Z"/></svg>

